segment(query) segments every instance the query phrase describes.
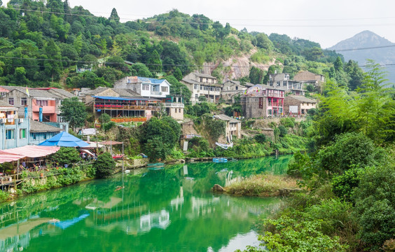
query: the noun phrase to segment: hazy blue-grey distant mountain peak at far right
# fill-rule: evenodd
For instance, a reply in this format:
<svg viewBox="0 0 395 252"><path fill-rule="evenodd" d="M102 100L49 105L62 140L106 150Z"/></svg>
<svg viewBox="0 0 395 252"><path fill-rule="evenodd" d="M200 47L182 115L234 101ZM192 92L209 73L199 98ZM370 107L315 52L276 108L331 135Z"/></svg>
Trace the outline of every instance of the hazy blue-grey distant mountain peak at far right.
<svg viewBox="0 0 395 252"><path fill-rule="evenodd" d="M394 47L388 47L394 45ZM376 47L383 48L376 48ZM370 48L366 50L348 50L354 48ZM352 38L333 45L328 50L336 50L345 57L345 60L353 59L360 66L366 64L366 59L373 59L378 64L395 64L395 43L383 38L372 31L362 31ZM342 51L345 50L345 51ZM387 67L387 78L395 83L395 71L393 67Z"/></svg>

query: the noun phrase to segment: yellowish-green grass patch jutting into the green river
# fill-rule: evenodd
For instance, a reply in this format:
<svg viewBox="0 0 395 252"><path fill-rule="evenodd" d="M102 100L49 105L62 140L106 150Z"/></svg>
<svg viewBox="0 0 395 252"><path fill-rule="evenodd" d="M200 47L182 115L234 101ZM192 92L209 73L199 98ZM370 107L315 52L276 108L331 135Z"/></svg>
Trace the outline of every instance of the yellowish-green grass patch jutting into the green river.
<svg viewBox="0 0 395 252"><path fill-rule="evenodd" d="M259 174L234 183L226 188L233 195L243 196L278 196L280 189L297 189L296 179L286 175Z"/></svg>

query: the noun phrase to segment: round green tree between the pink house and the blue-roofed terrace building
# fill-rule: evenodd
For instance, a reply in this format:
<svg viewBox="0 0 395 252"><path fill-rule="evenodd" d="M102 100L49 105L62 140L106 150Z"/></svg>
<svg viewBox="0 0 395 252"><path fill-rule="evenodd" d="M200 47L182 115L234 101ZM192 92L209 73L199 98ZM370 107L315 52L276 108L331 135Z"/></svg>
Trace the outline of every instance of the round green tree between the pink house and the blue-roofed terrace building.
<svg viewBox="0 0 395 252"><path fill-rule="evenodd" d="M76 127L83 127L85 125L86 113L85 104L78 101L78 97L66 98L60 106L60 116L69 122L70 127L74 132Z"/></svg>

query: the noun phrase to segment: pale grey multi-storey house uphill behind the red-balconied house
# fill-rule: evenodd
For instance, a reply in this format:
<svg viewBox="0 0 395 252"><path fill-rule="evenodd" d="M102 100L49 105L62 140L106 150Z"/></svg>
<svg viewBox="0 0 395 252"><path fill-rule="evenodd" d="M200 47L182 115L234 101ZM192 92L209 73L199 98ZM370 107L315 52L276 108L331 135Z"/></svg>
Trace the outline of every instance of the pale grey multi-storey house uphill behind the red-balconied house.
<svg viewBox="0 0 395 252"><path fill-rule="evenodd" d="M303 83L289 79L289 73L272 73L269 75L268 85L277 89L285 90L295 95L305 95Z"/></svg>

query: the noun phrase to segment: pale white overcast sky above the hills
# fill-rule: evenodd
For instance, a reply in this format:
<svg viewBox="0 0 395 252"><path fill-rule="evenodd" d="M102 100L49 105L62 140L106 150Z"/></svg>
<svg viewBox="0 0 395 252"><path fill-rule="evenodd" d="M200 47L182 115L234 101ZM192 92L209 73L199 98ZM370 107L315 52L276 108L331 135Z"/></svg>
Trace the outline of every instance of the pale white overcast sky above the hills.
<svg viewBox="0 0 395 252"><path fill-rule="evenodd" d="M6 1L4 1L6 2ZM69 0L94 15L108 18L116 8L121 22L149 18L176 8L203 14L240 30L286 34L328 48L370 30L395 42L394 0Z"/></svg>

